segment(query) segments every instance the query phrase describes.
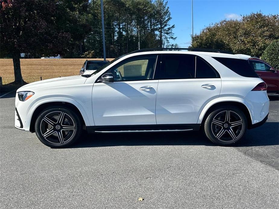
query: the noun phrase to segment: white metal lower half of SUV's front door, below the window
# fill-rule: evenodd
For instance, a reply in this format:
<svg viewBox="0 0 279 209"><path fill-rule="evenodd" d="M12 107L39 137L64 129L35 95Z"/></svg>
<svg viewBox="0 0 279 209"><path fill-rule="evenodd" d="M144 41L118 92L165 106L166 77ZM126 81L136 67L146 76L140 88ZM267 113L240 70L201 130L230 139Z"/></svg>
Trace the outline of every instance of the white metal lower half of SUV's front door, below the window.
<svg viewBox="0 0 279 209"><path fill-rule="evenodd" d="M153 88L140 90L144 86ZM157 86L158 80L95 83L92 93L95 125L156 124Z"/></svg>

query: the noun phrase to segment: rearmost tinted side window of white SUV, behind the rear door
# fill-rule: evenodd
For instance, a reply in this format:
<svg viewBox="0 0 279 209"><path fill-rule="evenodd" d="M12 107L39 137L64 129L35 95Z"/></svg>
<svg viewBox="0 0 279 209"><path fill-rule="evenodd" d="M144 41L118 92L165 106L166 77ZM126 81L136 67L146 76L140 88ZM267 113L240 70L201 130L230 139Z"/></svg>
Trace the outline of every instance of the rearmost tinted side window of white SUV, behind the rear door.
<svg viewBox="0 0 279 209"><path fill-rule="evenodd" d="M254 69L249 65L248 60L236 59L236 58L223 58L213 57L215 60L230 68L233 72L243 77L258 78L259 76L255 73Z"/></svg>

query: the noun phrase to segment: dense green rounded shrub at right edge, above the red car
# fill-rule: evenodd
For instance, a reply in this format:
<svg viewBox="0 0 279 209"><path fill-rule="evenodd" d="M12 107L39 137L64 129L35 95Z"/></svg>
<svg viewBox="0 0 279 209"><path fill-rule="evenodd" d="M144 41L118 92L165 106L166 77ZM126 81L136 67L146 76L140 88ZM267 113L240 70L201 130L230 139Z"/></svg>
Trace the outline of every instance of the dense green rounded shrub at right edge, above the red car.
<svg viewBox="0 0 279 209"><path fill-rule="evenodd" d="M268 45L261 59L279 70L279 40L274 40Z"/></svg>

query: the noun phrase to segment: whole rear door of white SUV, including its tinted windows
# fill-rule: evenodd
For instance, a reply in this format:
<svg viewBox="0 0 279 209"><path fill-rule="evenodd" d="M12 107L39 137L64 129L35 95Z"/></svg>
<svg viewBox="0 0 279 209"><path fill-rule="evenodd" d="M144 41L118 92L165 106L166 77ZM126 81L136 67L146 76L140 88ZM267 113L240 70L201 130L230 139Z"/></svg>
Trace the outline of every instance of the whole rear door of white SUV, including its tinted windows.
<svg viewBox="0 0 279 209"><path fill-rule="evenodd" d="M202 108L220 95L219 74L195 55L164 54L156 76L157 124L196 124Z"/></svg>

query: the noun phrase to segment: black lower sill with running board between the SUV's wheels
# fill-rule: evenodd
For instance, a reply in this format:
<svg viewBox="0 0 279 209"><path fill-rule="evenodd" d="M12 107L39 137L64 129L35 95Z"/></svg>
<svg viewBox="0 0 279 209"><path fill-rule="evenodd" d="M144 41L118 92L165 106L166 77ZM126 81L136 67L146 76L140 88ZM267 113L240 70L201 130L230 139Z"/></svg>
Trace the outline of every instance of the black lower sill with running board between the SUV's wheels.
<svg viewBox="0 0 279 209"><path fill-rule="evenodd" d="M164 131L191 130L198 131L201 124L155 124L155 125L120 125L120 126L86 126L88 133L95 131Z"/></svg>

